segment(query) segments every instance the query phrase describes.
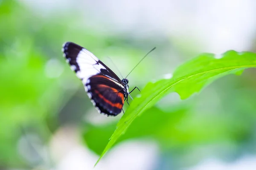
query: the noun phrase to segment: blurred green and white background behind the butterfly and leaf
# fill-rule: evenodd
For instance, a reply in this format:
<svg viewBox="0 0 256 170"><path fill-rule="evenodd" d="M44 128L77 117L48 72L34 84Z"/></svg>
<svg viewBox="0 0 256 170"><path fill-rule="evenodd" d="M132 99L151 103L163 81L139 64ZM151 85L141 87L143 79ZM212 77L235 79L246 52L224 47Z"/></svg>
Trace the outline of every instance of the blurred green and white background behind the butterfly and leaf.
<svg viewBox="0 0 256 170"><path fill-rule="evenodd" d="M255 9L254 0L0 0L0 170L93 169L122 116L93 108L63 42L123 76L156 46L128 77L142 89L201 52L256 52ZM94 169L255 170L255 96L255 69L184 101L170 94Z"/></svg>

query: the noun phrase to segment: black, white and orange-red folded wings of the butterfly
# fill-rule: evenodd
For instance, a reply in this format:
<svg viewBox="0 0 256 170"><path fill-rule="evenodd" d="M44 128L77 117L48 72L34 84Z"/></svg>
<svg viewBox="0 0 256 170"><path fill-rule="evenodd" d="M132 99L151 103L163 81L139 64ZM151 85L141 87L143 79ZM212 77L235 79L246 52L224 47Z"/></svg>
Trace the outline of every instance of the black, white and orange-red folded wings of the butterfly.
<svg viewBox="0 0 256 170"><path fill-rule="evenodd" d="M124 105L124 84L110 68L90 51L66 42L62 51L70 68L82 80L85 91L100 113L116 116Z"/></svg>

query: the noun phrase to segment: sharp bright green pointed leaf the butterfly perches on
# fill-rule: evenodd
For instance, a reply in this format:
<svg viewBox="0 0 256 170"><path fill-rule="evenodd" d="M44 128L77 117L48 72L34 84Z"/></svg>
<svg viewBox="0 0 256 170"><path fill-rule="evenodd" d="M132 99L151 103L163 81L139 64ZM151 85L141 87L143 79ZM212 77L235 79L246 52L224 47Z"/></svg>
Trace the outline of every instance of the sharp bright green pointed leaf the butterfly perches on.
<svg viewBox="0 0 256 170"><path fill-rule="evenodd" d="M151 108L167 94L177 92L181 99L186 99L215 79L227 74L239 75L245 68L252 67L256 67L256 54L252 52L227 51L222 55L201 54L178 67L172 78L149 82L118 122L99 160L140 113Z"/></svg>

